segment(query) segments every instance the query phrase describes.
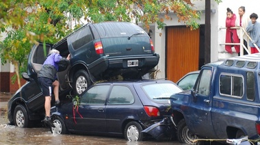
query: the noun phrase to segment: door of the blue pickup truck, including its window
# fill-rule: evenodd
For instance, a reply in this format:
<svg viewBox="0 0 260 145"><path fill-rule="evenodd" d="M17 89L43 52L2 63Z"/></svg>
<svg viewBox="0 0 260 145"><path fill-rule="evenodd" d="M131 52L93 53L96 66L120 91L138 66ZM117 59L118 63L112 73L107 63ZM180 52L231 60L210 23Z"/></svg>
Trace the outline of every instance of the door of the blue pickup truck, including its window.
<svg viewBox="0 0 260 145"><path fill-rule="evenodd" d="M188 127L198 135L211 136L214 134L211 123L211 79L212 68L200 70L200 76L194 85L193 101L190 102Z"/></svg>

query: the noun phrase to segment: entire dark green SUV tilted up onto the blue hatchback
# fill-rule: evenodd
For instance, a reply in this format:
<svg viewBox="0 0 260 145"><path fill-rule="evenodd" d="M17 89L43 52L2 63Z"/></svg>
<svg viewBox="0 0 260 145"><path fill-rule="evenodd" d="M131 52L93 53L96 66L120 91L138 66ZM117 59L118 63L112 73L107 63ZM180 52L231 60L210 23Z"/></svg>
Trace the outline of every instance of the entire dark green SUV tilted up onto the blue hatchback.
<svg viewBox="0 0 260 145"><path fill-rule="evenodd" d="M44 96L37 73L51 49L57 49L63 57L70 53L70 66L57 72L61 101L69 92L81 94L95 81L118 75L140 79L159 62L151 38L133 23L88 23L56 44L36 44L23 73L27 83L8 102L11 124L28 127L32 120L43 118Z"/></svg>

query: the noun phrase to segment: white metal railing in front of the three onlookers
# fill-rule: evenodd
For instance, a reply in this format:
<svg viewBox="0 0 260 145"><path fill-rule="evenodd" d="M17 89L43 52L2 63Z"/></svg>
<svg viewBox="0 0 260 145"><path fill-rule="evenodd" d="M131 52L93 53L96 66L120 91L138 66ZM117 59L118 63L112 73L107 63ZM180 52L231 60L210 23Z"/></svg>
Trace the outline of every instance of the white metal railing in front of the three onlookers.
<svg viewBox="0 0 260 145"><path fill-rule="evenodd" d="M226 29L226 27L220 27L220 29ZM250 41L252 41L252 38L250 38L250 36L246 32L246 30L243 27L231 27L231 29L240 29L240 33L239 33L240 43L220 43L220 45L240 45L240 55L244 55L243 49L245 49L246 52L248 52L248 54L250 54L250 51L248 50L249 48L246 48L246 46L244 45L243 31L244 31L244 35L246 35ZM260 52L260 49L259 49L259 47L257 47L257 44L254 43L254 46Z"/></svg>

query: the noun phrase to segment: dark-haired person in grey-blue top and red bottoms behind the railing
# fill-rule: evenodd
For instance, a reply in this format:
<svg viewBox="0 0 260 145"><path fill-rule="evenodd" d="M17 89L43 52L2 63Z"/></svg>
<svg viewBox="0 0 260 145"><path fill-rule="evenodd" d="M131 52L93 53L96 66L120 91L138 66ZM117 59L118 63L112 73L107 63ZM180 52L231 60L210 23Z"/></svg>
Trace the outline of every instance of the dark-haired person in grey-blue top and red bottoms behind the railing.
<svg viewBox="0 0 260 145"><path fill-rule="evenodd" d="M250 14L250 19L248 23L248 27L246 27L246 32L249 33L250 38L252 38L251 41L249 41L249 46L251 47L251 53L259 53L257 48L254 44L257 45L257 47L260 47L260 23L257 22L257 14L252 13Z"/></svg>

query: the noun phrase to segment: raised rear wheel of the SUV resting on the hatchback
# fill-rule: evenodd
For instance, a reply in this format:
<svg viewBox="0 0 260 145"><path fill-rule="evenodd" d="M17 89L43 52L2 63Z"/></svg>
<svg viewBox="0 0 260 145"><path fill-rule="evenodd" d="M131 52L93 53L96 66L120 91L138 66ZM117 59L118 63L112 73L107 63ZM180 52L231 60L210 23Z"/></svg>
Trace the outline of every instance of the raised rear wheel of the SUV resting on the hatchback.
<svg viewBox="0 0 260 145"><path fill-rule="evenodd" d="M73 92L77 95L81 94L90 85L90 77L86 70L79 70L73 77Z"/></svg>

